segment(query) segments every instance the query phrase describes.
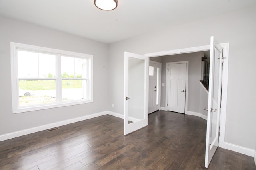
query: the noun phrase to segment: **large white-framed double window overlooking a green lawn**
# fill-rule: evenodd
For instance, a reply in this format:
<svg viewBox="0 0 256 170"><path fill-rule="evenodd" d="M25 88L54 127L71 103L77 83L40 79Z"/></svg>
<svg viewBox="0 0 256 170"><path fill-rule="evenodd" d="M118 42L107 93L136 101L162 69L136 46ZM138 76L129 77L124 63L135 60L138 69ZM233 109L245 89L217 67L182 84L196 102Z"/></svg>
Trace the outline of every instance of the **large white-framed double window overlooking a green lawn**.
<svg viewBox="0 0 256 170"><path fill-rule="evenodd" d="M92 55L11 43L13 113L93 102Z"/></svg>

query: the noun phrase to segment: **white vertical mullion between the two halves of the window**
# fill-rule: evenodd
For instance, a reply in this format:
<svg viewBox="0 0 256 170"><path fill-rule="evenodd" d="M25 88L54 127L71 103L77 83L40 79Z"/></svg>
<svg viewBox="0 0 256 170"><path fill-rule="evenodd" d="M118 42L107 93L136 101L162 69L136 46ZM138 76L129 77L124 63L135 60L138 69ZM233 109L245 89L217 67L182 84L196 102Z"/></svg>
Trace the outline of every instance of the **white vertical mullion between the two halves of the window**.
<svg viewBox="0 0 256 170"><path fill-rule="evenodd" d="M62 84L61 84L61 56L56 55L56 102L62 101Z"/></svg>

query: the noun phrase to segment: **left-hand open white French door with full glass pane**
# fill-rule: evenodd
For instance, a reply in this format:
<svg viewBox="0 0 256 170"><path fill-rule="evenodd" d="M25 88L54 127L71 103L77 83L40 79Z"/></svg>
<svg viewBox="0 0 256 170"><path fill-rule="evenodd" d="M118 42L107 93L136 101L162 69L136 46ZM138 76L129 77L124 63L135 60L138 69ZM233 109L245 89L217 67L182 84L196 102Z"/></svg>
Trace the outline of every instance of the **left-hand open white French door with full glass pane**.
<svg viewBox="0 0 256 170"><path fill-rule="evenodd" d="M124 135L148 125L148 61L124 52Z"/></svg>

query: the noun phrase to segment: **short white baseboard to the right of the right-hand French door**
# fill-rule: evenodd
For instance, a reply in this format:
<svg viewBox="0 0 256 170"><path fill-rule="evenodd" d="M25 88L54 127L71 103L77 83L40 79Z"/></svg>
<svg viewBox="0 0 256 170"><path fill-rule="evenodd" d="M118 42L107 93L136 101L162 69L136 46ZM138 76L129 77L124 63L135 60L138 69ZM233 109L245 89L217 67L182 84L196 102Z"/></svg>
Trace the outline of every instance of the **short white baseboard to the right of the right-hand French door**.
<svg viewBox="0 0 256 170"><path fill-rule="evenodd" d="M220 136L221 136L221 133L220 133ZM239 145L235 145L235 144L232 144L232 143L228 143L228 142L224 142L224 149L228 149L228 150L232 150L234 152L238 152L238 153L241 153L241 154L245 154L245 155L248 155L248 156L254 156L255 154L255 150L253 149L250 149L250 148L246 148L246 147L242 147L242 146L239 146ZM255 156L254 156L255 158Z"/></svg>

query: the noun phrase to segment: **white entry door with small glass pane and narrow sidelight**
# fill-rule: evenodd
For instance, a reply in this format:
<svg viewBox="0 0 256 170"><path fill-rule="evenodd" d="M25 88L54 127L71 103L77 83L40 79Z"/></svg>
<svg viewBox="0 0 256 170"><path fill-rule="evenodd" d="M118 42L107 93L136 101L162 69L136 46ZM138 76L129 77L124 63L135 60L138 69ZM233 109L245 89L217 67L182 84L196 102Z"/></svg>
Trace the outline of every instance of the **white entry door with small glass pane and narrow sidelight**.
<svg viewBox="0 0 256 170"><path fill-rule="evenodd" d="M155 61L149 62L148 114L159 110L160 67L161 63Z"/></svg>

